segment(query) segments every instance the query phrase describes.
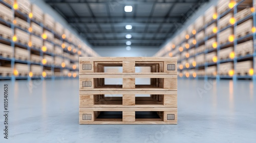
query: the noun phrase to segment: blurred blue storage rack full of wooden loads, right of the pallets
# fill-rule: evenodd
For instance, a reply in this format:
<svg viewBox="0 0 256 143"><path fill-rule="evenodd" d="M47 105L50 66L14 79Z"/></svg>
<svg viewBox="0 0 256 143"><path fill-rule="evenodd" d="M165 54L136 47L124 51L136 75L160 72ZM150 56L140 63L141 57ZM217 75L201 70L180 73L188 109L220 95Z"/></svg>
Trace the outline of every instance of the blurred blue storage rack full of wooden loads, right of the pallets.
<svg viewBox="0 0 256 143"><path fill-rule="evenodd" d="M220 0L218 2L219 6L212 6L210 9L215 9L215 11L217 12L217 9L222 9L223 10L223 3L228 3L228 5L231 3L231 5L233 4L232 8L228 8L228 9L224 9L225 11L222 12L221 14L216 15L216 18L213 19L211 18L210 22L205 23L203 27L201 27L200 29L198 29L196 31L196 33L192 34L191 31L195 30L195 25L192 24L190 25L187 30L183 31L180 35L174 37L174 40L168 42L155 56L177 56L178 57L178 66L181 66L183 68L179 68L178 70L178 75L180 78L204 78L204 79L233 79L233 80L237 80L237 79L253 79L256 80L256 43L255 38L256 38L256 32L255 32L255 27L256 27L256 2L254 0L236 0L236 1L226 1L226 0ZM222 4L222 5L221 5ZM222 8L220 8L220 6L222 6ZM248 7L249 6L249 7ZM227 16L227 14L231 13L231 15L233 15L233 17L236 17L237 14L242 10L245 9L249 9L251 10L250 14L246 14L245 16L242 17L240 15L240 19L236 20L233 25L228 25L228 26L221 26L224 27L221 30L219 29L220 27L220 21L221 19L223 19L224 16ZM209 15L208 15L209 16ZM211 16L211 15L210 15ZM204 15L202 15L201 17L204 17L204 21L206 20L206 13ZM198 18L199 19L199 18ZM200 22L197 19L197 21L195 23ZM242 37L236 38L236 32L237 32L237 28L239 25L241 25L243 22L247 22L248 20L252 20L253 21L253 29L251 32L246 33L246 35L243 35ZM207 28L210 27L213 23L217 23L217 27L218 27L218 31L214 34L210 34L208 36L205 35L205 37L203 38L203 40L200 41L196 41L196 44L189 44L189 48L186 48L186 44L189 43L190 39L196 38L198 37L200 34L200 32L203 32L204 34L206 34ZM228 41L228 42L224 42L223 44L220 44L220 41L222 41L221 37L221 32L227 30L227 29L232 29L234 32L232 33L234 35L234 39L233 41ZM187 38L189 35L189 38ZM226 35L227 37L230 35ZM204 50L199 53L197 53L197 51L200 51L200 49L202 49L200 46L204 45L206 46L206 43L210 42L210 40L212 40L212 38L216 38L216 42L215 46L216 48L211 48L211 49L207 49L206 47L204 48ZM246 55L242 55L242 56L237 56L236 55L236 50L238 45L240 45L241 43L245 43L252 40L252 44L253 44L253 53L251 54L246 54ZM178 43L175 41L179 41ZM191 41L191 40L190 40ZM182 47L182 49L184 49L183 51L179 51L179 48ZM232 52L235 53L236 56L234 56L233 58L226 58L226 59L220 59L220 57L222 56L220 54L221 50L226 49L226 51L228 51L228 47L233 47ZM248 49L249 45L245 45L245 49ZM194 55L188 55L187 57L184 57L184 55L186 56L187 53L193 53ZM216 61L211 61L211 62L207 62L207 58L206 55L208 53L212 53L212 52L216 52L216 56L215 59ZM202 59L201 64L195 63L195 65L191 64L191 62L187 62L187 61L196 61L196 60L191 60L191 59L195 59L195 58L199 58L199 55L203 55L204 58ZM200 57L202 58L202 57ZM249 73L249 71L247 71L248 73L246 74L242 74L239 75L238 73L240 73L239 68L238 68L238 63L240 64L239 66L241 66L241 62L243 61L247 61L250 63L243 63L242 65L248 66L246 64L250 64L251 66L251 73ZM223 74L223 72L221 72L221 70L225 70L223 69L223 67L225 67L225 65L223 66L223 64L226 63L226 65L228 63L231 63L231 67L232 69L228 70L228 66L226 66L227 71L225 71L224 73L228 74ZM187 64L187 67L186 67ZM188 66L189 65L189 66ZM216 66L216 68L214 68L214 66ZM221 67L220 67L221 66ZM211 72L212 71L212 72ZM209 73L212 73L211 75ZM250 75L251 74L251 75Z"/></svg>

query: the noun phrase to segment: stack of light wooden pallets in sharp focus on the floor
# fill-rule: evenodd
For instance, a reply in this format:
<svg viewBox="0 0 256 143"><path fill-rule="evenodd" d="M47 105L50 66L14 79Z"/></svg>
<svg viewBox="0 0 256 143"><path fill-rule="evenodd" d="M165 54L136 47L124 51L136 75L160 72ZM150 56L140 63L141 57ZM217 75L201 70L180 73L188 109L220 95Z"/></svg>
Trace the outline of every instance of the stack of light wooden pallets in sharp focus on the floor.
<svg viewBox="0 0 256 143"><path fill-rule="evenodd" d="M105 71L111 67L122 73ZM135 67L151 72L136 73ZM106 84L108 78L122 84ZM150 84L137 85L138 78ZM79 85L80 124L177 124L176 57L80 57Z"/></svg>

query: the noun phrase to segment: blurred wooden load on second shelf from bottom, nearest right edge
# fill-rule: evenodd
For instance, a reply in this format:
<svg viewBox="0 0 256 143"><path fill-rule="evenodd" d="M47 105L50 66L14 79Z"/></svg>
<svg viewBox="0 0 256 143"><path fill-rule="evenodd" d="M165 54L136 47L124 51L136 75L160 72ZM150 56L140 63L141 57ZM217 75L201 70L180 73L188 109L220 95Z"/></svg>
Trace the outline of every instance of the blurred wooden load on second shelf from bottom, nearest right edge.
<svg viewBox="0 0 256 143"><path fill-rule="evenodd" d="M248 54L253 54L253 41L249 40L240 44L237 44L237 47L234 51L237 57L246 56Z"/></svg>

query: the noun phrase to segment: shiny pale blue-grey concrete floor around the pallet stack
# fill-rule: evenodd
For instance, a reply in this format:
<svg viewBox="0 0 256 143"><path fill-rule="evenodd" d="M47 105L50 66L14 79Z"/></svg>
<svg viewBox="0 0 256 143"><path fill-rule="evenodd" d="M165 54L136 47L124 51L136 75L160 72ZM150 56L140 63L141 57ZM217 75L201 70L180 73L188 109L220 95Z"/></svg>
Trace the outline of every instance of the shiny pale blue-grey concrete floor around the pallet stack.
<svg viewBox="0 0 256 143"><path fill-rule="evenodd" d="M9 139L3 133L8 83ZM0 81L0 142L256 142L256 83L178 81L178 125L79 125L78 80Z"/></svg>

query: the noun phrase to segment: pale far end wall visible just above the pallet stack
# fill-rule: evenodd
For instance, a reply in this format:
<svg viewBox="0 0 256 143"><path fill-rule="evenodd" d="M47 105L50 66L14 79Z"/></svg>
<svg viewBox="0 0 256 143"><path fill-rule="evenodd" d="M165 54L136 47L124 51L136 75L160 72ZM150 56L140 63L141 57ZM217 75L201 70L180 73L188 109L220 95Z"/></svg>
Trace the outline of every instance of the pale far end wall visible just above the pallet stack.
<svg viewBox="0 0 256 143"><path fill-rule="evenodd" d="M127 51L126 46L97 46L94 51L102 57L151 57L160 49L153 46L131 46Z"/></svg>

